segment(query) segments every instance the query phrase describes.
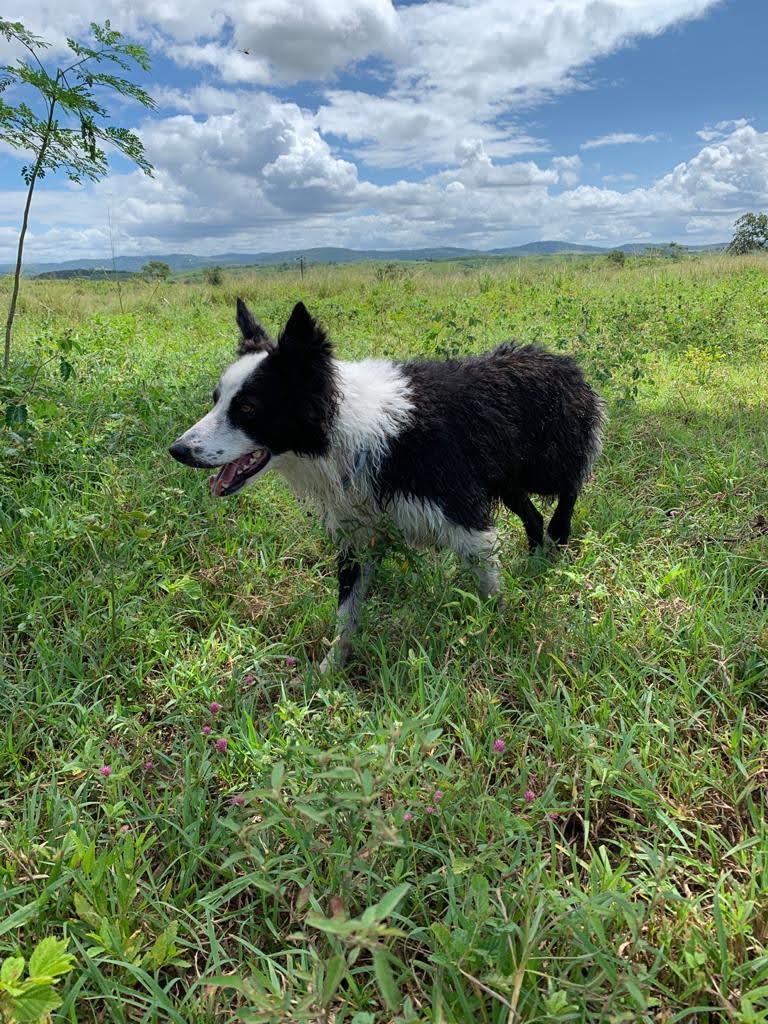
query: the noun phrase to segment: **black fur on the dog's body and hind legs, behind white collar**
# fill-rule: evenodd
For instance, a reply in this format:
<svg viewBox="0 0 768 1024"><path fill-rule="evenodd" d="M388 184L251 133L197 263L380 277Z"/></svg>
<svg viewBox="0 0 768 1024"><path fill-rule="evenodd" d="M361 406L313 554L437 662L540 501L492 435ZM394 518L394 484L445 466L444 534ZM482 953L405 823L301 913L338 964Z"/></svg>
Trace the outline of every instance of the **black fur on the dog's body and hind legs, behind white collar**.
<svg viewBox="0 0 768 1024"><path fill-rule="evenodd" d="M549 534L567 541L575 496L594 457L602 406L573 359L507 342L483 355L402 367L418 417L391 443L378 478L436 501L449 518L487 529L503 502L543 542L529 494L558 496Z"/></svg>

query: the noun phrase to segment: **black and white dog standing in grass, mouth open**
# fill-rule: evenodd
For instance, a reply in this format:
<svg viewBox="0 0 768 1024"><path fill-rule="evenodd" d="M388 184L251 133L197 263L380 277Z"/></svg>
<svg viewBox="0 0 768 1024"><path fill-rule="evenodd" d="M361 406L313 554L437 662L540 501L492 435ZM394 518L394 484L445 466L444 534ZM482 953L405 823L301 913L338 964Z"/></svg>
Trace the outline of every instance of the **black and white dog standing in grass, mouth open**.
<svg viewBox="0 0 768 1024"><path fill-rule="evenodd" d="M339 546L339 639L323 663L343 665L358 627L370 543L393 524L414 545L451 548L498 593L494 513L522 520L530 549L544 523L529 495L556 496L547 532L565 544L582 484L600 453L603 403L578 365L507 343L446 361L334 358L299 302L276 342L242 299L238 359L213 409L170 449L219 498L267 468L321 510Z"/></svg>

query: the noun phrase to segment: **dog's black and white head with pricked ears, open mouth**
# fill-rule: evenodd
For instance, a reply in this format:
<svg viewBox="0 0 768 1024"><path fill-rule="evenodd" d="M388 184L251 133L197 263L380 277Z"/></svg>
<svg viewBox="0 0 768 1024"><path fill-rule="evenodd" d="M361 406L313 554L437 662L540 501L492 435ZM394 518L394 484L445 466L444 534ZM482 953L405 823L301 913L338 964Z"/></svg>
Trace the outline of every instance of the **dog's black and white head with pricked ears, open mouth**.
<svg viewBox="0 0 768 1024"><path fill-rule="evenodd" d="M255 479L274 456L328 451L337 404L331 344L302 302L274 342L238 299L239 358L213 392L213 409L170 447L211 477L218 497Z"/></svg>

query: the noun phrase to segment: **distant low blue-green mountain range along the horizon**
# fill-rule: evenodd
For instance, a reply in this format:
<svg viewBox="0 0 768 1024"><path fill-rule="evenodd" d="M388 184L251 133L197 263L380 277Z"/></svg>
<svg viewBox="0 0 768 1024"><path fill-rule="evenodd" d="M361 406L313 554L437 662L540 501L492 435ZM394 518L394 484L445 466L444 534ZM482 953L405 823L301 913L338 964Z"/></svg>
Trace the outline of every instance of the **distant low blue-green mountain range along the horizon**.
<svg viewBox="0 0 768 1024"><path fill-rule="evenodd" d="M710 246L686 246L691 251L720 250L726 243ZM636 254L647 249L668 248L651 243L630 243L623 246L582 246L572 242L528 242L523 246L511 246L505 249L459 249L444 246L434 249L337 249L326 247L319 249L290 249L279 253L218 253L214 256L193 256L189 253L151 253L144 256L118 256L113 264L112 259L74 259L58 263L26 263L24 270L28 275L48 273L60 270L122 270L136 272L150 260L160 260L167 263L174 271L200 270L207 266L276 266L285 263L295 263L303 256L306 264L312 263L362 263L372 260L380 261L437 261L471 259L478 257L520 256L553 256L558 253L585 253L598 255L621 249L622 252ZM0 273L12 273L11 263L0 264Z"/></svg>

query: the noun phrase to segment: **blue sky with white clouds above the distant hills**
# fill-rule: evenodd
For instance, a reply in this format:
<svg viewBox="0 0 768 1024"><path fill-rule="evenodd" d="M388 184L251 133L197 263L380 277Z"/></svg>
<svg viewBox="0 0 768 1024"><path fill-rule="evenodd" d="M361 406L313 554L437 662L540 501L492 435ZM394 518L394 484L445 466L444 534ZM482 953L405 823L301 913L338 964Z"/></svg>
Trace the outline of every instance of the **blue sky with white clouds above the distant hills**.
<svg viewBox="0 0 768 1024"><path fill-rule="evenodd" d="M695 245L768 209L768 0L12 0L3 13L51 43L51 66L68 35L111 18L150 50L136 80L158 102L110 103L154 176L117 157L95 184L46 178L28 261ZM28 159L0 142L2 262Z"/></svg>

